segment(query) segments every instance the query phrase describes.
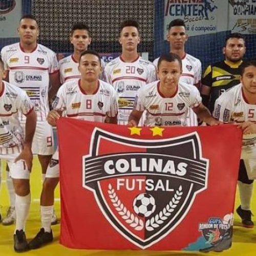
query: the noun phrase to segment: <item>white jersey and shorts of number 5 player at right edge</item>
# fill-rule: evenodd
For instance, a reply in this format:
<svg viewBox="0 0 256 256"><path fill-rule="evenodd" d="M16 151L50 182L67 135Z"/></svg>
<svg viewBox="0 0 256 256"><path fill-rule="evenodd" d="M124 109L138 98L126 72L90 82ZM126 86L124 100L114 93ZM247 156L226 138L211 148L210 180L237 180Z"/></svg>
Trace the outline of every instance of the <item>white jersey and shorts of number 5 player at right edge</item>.
<svg viewBox="0 0 256 256"><path fill-rule="evenodd" d="M249 104L243 94L242 84L223 93L215 102L214 117L223 122L256 123L256 104ZM241 159L249 179L256 179L256 135L243 135Z"/></svg>

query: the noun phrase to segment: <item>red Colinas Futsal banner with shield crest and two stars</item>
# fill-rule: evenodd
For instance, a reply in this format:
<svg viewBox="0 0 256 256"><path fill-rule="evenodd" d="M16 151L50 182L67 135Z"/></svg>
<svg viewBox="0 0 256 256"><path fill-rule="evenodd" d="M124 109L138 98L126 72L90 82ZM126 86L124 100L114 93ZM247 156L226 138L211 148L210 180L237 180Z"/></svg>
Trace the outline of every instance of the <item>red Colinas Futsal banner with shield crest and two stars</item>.
<svg viewBox="0 0 256 256"><path fill-rule="evenodd" d="M60 243L221 251L232 242L242 132L61 118Z"/></svg>

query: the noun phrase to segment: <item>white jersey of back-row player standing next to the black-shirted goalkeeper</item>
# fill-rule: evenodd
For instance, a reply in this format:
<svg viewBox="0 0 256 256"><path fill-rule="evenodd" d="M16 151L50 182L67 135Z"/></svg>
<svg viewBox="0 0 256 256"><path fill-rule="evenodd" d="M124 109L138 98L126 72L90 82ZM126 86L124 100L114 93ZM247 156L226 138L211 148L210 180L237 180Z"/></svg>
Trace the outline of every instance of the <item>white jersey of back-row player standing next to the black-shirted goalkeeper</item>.
<svg viewBox="0 0 256 256"><path fill-rule="evenodd" d="M154 65L157 67L159 58L153 61ZM190 54L185 54L185 56L181 59L182 61L182 74L180 77L181 82L185 82L187 84L197 84L201 81L202 76L202 63L198 58Z"/></svg>

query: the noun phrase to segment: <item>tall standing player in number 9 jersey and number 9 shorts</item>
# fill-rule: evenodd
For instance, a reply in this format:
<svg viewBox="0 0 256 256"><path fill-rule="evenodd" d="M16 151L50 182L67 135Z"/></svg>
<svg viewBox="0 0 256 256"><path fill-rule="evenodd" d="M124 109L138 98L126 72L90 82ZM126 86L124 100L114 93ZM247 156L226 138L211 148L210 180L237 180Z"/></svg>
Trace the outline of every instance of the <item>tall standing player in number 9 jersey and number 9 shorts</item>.
<svg viewBox="0 0 256 256"><path fill-rule="evenodd" d="M20 41L6 46L1 55L7 70L6 80L26 91L34 105L37 114L37 125L32 144L32 153L38 155L42 170L42 180L45 178L47 166L54 152L52 127L46 121L49 113L49 100L59 88L59 67L55 53L45 46L37 44L39 35L38 24L32 15L20 19L17 28ZM49 86L50 90L49 90ZM24 126L26 117L19 115ZM8 175L9 176L9 175ZM15 194L12 181L7 179L11 207L8 218L3 224L9 225L15 221ZM54 220L56 223L57 220Z"/></svg>

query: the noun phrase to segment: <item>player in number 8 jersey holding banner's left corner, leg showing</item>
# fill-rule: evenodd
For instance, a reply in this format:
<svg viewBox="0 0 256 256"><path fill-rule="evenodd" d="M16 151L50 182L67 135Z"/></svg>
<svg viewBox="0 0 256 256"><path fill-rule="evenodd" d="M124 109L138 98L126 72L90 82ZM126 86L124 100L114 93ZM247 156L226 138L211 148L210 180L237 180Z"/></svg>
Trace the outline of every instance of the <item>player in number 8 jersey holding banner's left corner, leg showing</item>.
<svg viewBox="0 0 256 256"><path fill-rule="evenodd" d="M52 126L56 126L56 121L62 112L66 111L66 116L70 118L117 123L117 94L111 84L99 80L102 68L98 53L91 50L82 52L78 69L81 79L70 80L62 84L53 101L53 110L48 114L47 121ZM30 241L30 249L37 249L53 241L51 212L54 189L58 182L59 155L57 149L47 168L41 191L41 229Z"/></svg>

